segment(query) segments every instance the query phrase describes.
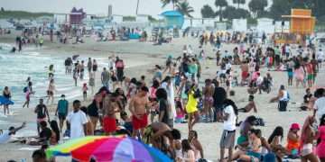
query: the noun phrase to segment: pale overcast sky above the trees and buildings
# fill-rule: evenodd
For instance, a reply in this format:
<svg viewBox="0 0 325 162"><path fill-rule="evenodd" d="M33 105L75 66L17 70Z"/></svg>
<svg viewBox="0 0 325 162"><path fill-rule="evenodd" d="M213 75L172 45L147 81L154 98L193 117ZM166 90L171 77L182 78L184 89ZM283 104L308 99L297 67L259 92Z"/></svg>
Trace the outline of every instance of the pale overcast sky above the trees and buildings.
<svg viewBox="0 0 325 162"><path fill-rule="evenodd" d="M214 0L188 1L195 10L192 14L194 17L201 17L200 9L204 4L210 4L216 10ZM137 0L0 0L0 6L7 10L51 13L69 13L76 6L84 8L88 14L107 15L108 4L112 4L113 14L135 15L136 2ZM231 3L232 0L228 0L228 4ZM172 5L162 8L160 0L140 0L139 4L139 14L156 16L168 9L172 9Z"/></svg>

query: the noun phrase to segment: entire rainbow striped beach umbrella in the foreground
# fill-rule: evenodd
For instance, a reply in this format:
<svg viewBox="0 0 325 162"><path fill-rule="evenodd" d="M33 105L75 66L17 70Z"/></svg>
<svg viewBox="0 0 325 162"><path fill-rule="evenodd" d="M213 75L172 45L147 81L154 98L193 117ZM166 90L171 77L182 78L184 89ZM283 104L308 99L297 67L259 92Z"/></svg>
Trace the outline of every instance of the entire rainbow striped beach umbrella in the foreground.
<svg viewBox="0 0 325 162"><path fill-rule="evenodd" d="M160 150L126 136L87 136L46 150L47 157L70 155L80 162L172 162Z"/></svg>

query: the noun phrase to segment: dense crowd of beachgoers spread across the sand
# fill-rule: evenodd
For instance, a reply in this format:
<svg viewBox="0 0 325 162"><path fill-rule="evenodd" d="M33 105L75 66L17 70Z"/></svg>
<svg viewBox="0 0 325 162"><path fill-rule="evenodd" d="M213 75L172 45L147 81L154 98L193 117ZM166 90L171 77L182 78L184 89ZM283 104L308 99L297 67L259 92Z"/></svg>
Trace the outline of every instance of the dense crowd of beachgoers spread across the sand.
<svg viewBox="0 0 325 162"><path fill-rule="evenodd" d="M30 34L35 35L27 31L16 38L19 51L26 43L42 47L42 34L36 34L32 41L24 41ZM195 126L198 122L221 122L223 131L217 132L221 134L219 161L325 161L325 89L317 86L321 82L317 78L323 75L320 72L325 57L322 49L311 44L295 49L292 44L269 45L265 35L261 43L253 41L250 34L205 32L198 38L200 52L184 45L180 57L170 55L163 64L148 67L151 75L137 77L125 74L125 61L115 54L109 56L107 66L102 68L97 58L81 60L78 55L71 56L64 61L65 75L71 77L75 86L83 83L79 87L83 97L74 101L68 101L65 94L60 94L59 101L54 100L56 65L49 65L49 85L44 89L47 97L39 99L34 108L39 137L21 142L41 147L33 152L34 161L55 161L53 157L46 159L45 150L62 141L124 134L160 149L175 161L202 162L209 159ZM229 43L234 48L223 49L223 44ZM207 46L213 48L213 57L205 50ZM202 77L207 62L214 62L218 70ZM240 75L235 76L234 71ZM287 82L274 77L274 71L287 74ZM281 80L279 87L274 87L276 80ZM10 87L2 86L5 87L3 97L10 100ZM34 93L32 86L32 77L28 77L23 88L23 107L29 107ZM259 107L255 100L278 89L277 95L267 102L278 103L278 112L287 112L291 100L288 86L305 91L300 109L311 111L312 115L305 117L303 125L299 121L292 123L288 132L279 124L265 138L256 127L263 126L265 119L256 117ZM238 107L233 100L237 87L246 87L248 102L244 107ZM83 104L88 98L92 102ZM56 102L53 116L48 107ZM3 105L5 114L9 113L10 106ZM238 116L252 112L255 113L246 120L238 120ZM178 123L188 125L188 134L181 134L175 127ZM24 126L25 123L4 130L0 143L7 142ZM286 145L282 140L286 140Z"/></svg>

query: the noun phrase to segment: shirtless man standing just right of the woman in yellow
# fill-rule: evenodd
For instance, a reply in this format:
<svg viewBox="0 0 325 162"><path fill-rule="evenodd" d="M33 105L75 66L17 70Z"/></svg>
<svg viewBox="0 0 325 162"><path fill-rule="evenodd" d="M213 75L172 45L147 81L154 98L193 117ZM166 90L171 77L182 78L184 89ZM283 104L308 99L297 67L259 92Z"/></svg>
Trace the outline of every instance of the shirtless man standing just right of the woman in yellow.
<svg viewBox="0 0 325 162"><path fill-rule="evenodd" d="M205 81L205 87L203 87L203 95L204 95L204 114L206 116L206 121L213 121L211 116L211 108L213 105L213 94L214 94L214 86L212 85L211 79L207 79Z"/></svg>

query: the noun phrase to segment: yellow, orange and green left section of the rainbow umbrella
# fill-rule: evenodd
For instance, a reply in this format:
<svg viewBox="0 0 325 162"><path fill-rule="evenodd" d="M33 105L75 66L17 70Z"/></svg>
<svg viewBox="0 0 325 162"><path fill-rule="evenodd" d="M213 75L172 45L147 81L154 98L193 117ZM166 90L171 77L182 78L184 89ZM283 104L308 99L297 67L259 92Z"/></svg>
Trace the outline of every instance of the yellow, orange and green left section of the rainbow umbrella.
<svg viewBox="0 0 325 162"><path fill-rule="evenodd" d="M70 156L72 150L76 148L80 148L90 142L93 142L97 139L107 139L108 136L87 136L79 139L70 139L69 141L46 149L47 157L55 157L55 156Z"/></svg>

